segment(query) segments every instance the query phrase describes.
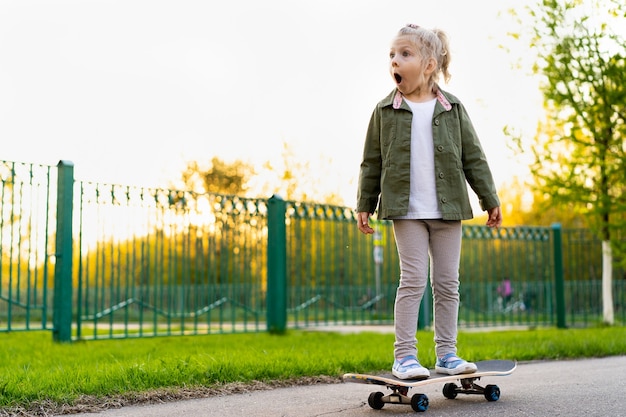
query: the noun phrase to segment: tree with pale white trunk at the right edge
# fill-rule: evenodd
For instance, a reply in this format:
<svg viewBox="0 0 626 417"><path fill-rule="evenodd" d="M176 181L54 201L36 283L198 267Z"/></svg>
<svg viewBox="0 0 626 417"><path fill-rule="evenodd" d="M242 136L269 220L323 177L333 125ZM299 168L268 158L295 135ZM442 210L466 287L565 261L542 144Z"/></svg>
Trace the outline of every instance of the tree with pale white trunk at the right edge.
<svg viewBox="0 0 626 417"><path fill-rule="evenodd" d="M546 122L531 146L537 187L602 240L603 314L614 322L613 253L626 224L626 25L623 0L543 0L530 7L531 48ZM516 35L517 36L517 35Z"/></svg>

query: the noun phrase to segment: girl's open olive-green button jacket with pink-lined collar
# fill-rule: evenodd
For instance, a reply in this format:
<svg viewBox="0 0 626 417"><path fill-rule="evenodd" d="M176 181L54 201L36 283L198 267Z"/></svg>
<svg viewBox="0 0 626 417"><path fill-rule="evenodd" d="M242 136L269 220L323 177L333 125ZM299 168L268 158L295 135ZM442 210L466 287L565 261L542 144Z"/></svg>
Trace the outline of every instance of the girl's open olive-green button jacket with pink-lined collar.
<svg viewBox="0 0 626 417"><path fill-rule="evenodd" d="M397 89L374 109L365 137L357 212L374 213L378 206L380 219L406 215L412 118ZM483 210L498 207L500 201L485 154L459 99L439 90L432 126L436 189L443 219L473 217L466 182L478 195Z"/></svg>

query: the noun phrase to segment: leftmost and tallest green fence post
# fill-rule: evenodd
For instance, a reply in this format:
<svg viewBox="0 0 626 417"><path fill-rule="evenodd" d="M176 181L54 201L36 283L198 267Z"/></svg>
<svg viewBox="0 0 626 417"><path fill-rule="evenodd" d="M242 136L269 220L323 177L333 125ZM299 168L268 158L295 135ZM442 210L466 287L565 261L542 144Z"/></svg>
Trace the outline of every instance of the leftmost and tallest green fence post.
<svg viewBox="0 0 626 417"><path fill-rule="evenodd" d="M54 264L54 313L52 337L55 342L72 340L72 208L74 164L57 165L57 223Z"/></svg>

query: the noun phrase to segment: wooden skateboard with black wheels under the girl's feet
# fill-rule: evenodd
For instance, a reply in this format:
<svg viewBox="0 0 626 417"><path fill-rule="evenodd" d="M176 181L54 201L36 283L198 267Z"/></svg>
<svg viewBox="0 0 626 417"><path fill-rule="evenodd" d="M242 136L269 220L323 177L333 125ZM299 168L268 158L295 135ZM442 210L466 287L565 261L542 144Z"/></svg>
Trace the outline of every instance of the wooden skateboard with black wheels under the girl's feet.
<svg viewBox="0 0 626 417"><path fill-rule="evenodd" d="M497 385L486 385L484 387L476 384L476 381L487 376L510 375L517 363L508 360L491 360L475 362L478 368L471 374L445 375L438 374L434 369L430 370L430 377L426 379L398 379L392 374L366 375L366 374L344 374L344 382L356 382L359 384L384 385L392 392L385 395L382 392L372 392L367 400L370 407L380 410L385 404L407 404L414 411L422 412L428 409L428 396L426 394L414 394L409 397L409 389L417 388L436 382L445 383L443 395L446 398L454 399L458 394L483 395L487 401L498 401L500 399L500 388ZM458 386L455 382L459 382Z"/></svg>

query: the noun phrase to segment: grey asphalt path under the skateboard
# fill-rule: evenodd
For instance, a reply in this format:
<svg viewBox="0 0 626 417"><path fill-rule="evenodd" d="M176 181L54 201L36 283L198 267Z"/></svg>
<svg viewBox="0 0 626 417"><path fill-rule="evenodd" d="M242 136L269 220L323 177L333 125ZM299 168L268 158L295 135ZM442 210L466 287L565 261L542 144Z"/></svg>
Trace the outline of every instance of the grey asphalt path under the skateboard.
<svg viewBox="0 0 626 417"><path fill-rule="evenodd" d="M626 416L626 355L520 363L509 376L485 377L479 383L497 384L501 390L500 400L487 402L479 395L462 394L448 400L441 392L443 384L433 383L419 388L430 400L428 410L419 414L430 417ZM74 416L391 417L418 414L407 405L387 404L382 410L374 410L367 405L372 391L385 392L385 388L354 383L299 386ZM409 395L416 392L412 389Z"/></svg>

